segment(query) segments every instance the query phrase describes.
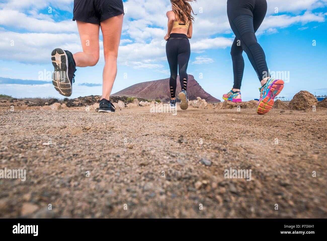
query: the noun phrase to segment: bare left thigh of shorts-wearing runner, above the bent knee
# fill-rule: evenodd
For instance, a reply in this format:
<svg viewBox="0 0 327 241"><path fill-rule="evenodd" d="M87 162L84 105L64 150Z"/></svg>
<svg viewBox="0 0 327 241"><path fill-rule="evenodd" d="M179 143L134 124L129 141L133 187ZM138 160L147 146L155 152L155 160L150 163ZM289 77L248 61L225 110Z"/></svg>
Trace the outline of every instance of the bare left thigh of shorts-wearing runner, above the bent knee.
<svg viewBox="0 0 327 241"><path fill-rule="evenodd" d="M79 37L81 39L81 44L83 52L92 55L96 62L99 60L99 30L100 26L93 23L85 23L81 21L77 22L77 28L79 32Z"/></svg>

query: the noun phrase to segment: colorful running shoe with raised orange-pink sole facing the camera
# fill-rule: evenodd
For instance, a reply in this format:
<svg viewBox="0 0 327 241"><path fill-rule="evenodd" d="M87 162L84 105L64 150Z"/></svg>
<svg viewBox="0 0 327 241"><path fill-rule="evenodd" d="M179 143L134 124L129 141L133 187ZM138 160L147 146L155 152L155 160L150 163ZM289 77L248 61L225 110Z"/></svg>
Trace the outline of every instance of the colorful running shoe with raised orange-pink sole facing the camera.
<svg viewBox="0 0 327 241"><path fill-rule="evenodd" d="M259 88L260 99L257 106L257 113L266 114L274 105L274 99L284 88L284 81L280 79L270 78L267 83Z"/></svg>

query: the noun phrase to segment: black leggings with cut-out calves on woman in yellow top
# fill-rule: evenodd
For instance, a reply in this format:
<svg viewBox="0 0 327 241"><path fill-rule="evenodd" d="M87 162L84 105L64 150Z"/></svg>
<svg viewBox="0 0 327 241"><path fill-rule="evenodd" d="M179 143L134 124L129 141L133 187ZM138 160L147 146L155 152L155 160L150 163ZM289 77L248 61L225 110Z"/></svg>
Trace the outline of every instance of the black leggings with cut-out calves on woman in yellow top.
<svg viewBox="0 0 327 241"><path fill-rule="evenodd" d="M170 95L175 98L177 86L177 69L180 74L181 89L187 88L187 66L190 60L191 47L185 34L171 33L166 44L167 59L170 68Z"/></svg>

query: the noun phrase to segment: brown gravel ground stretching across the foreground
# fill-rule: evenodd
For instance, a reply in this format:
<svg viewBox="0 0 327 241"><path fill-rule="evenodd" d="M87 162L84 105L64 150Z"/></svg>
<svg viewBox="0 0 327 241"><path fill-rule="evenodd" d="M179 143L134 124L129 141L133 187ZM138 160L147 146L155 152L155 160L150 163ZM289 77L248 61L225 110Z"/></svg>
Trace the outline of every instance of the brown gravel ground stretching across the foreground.
<svg viewBox="0 0 327 241"><path fill-rule="evenodd" d="M327 217L325 108L17 108L0 120L0 169L26 169L0 179L1 218Z"/></svg>

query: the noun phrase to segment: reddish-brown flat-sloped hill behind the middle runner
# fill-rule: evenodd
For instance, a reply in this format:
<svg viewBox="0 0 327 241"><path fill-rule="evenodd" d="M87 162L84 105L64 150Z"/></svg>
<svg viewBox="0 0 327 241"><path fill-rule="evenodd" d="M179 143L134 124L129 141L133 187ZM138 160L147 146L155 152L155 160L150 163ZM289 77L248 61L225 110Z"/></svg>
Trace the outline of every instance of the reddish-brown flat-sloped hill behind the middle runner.
<svg viewBox="0 0 327 241"><path fill-rule="evenodd" d="M180 76L177 77L176 99L178 99L178 93L181 92L179 78ZM207 102L220 101L204 91L194 79L193 75L188 75L187 94L189 100L196 100L197 97L201 97L201 99L205 99ZM170 100L169 78L135 84L117 93L111 94L111 96L128 96L145 98L148 100L160 99L161 101L168 101Z"/></svg>

